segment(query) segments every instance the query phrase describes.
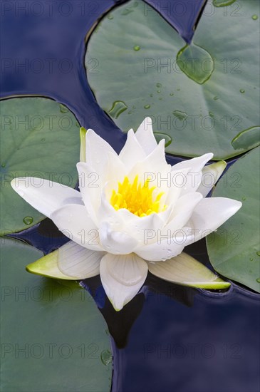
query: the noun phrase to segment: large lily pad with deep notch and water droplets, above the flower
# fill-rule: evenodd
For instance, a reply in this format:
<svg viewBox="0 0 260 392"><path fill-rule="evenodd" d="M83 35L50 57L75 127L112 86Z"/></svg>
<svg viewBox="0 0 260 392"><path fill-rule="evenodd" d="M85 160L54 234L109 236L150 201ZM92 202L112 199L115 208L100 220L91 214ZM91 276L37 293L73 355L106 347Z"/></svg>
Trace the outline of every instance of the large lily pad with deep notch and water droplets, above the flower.
<svg viewBox="0 0 260 392"><path fill-rule="evenodd" d="M222 160L249 150L232 140L259 126L258 2L209 4L191 46L142 1L124 13L133 3L113 9L88 40L85 63L98 58L99 68L87 77L100 107L125 132L150 116L154 131L174 140L167 153Z"/></svg>

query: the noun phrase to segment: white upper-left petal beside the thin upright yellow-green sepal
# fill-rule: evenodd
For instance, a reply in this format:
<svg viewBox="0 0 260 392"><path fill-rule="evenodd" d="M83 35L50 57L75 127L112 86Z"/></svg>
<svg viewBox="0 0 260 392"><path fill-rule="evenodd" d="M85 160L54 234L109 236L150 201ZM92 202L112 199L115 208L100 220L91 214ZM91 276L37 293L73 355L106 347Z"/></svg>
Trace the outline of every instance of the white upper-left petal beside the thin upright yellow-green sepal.
<svg viewBox="0 0 260 392"><path fill-rule="evenodd" d="M115 150L92 129L85 135L87 163L93 167L98 175L102 175L108 162L108 153L117 155Z"/></svg>

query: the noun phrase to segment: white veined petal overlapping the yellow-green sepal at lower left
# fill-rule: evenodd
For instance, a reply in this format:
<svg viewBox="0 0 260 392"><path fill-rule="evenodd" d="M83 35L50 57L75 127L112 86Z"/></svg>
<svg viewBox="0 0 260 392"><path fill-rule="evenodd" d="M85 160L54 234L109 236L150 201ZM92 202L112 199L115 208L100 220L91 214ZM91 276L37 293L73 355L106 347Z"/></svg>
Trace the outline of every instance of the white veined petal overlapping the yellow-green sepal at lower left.
<svg viewBox="0 0 260 392"><path fill-rule="evenodd" d="M58 252L58 269L75 279L86 279L99 274L99 266L105 252L81 247L73 241L60 247Z"/></svg>

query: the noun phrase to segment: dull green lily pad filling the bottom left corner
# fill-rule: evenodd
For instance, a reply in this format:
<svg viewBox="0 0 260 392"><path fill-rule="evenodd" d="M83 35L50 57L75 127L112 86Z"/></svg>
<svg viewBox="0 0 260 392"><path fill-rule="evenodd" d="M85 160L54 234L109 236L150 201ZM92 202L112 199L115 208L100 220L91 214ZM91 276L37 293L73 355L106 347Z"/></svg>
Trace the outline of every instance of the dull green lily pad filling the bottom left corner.
<svg viewBox="0 0 260 392"><path fill-rule="evenodd" d="M28 274L26 264L41 256L27 244L1 239L1 390L110 391L103 316L79 284Z"/></svg>

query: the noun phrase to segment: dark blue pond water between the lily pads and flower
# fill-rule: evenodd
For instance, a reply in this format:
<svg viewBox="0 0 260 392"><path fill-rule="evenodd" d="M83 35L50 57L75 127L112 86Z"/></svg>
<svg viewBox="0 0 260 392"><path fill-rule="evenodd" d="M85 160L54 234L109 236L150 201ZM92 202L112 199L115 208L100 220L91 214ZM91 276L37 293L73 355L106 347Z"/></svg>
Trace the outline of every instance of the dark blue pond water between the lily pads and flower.
<svg viewBox="0 0 260 392"><path fill-rule="evenodd" d="M166 3L177 2L189 4L157 1L159 11L165 12ZM194 19L175 20L175 28L186 37L203 1L192 3L197 4ZM1 1L1 97L54 98L119 151L125 135L95 102L83 68L85 33L114 4L112 0ZM180 158L168 160L175 163ZM17 237L45 253L67 241L49 220ZM186 251L208 263L203 240ZM113 336L113 391L259 391L259 296L249 289L233 284L228 292L210 293L149 275L142 292L116 313L99 277L83 284Z"/></svg>

